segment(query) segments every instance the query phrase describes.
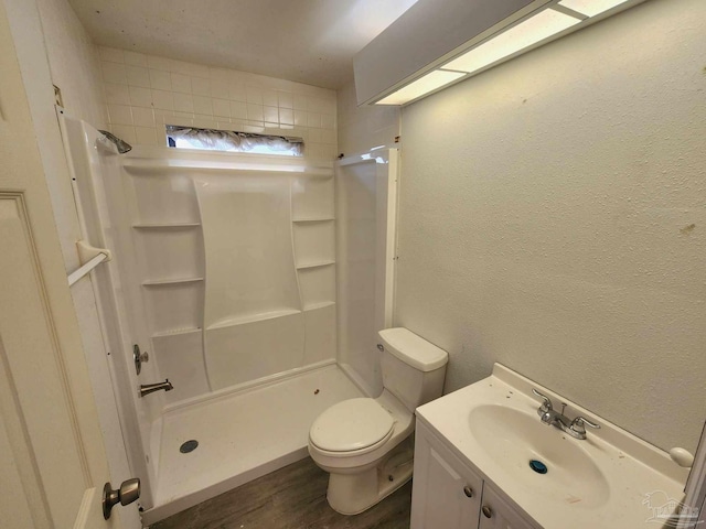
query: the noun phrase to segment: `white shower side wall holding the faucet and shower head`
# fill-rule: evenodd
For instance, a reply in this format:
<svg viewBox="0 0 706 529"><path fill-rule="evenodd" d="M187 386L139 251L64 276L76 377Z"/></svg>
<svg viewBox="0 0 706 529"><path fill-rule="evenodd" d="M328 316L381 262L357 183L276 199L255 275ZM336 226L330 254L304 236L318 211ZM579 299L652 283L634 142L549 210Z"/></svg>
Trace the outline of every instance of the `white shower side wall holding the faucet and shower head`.
<svg viewBox="0 0 706 529"><path fill-rule="evenodd" d="M67 180L74 182L74 210L79 224L73 240L83 239L114 251L111 261L100 264L72 287L111 477L119 481L127 475L139 476L143 485L140 504L149 507L159 461L159 452L151 451L152 434L159 431L152 425L160 417L164 401L161 395L140 399L135 390L141 382L131 359L132 344L145 341L137 332L141 331L136 325L139 315L128 309L132 306L129 289L125 288L118 273L122 255L116 255L115 250L119 247L120 231L116 229L108 207L108 196L115 195L110 184L119 185L120 182L121 156L85 121L72 118L64 110L60 110L58 117L71 165L72 177ZM154 364L143 365L142 381L158 377ZM120 463L121 460L125 462ZM137 523L137 510L133 515Z"/></svg>

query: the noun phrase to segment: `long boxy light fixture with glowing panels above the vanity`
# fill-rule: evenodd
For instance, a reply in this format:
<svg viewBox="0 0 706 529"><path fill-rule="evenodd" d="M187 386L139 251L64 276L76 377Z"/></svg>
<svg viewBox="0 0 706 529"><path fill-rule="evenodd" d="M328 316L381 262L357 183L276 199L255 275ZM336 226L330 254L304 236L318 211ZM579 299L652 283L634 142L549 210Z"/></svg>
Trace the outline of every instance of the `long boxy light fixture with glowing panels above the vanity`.
<svg viewBox="0 0 706 529"><path fill-rule="evenodd" d="M525 8L514 13L506 11L505 19L494 19L496 22L492 17L479 21L479 17L490 13L491 9L501 9L504 4L500 0L494 0L500 3L492 3L491 0L473 0L477 3L475 8L466 3L469 0L446 1L451 2L449 8L456 9L453 14L458 14L456 19L446 20L448 25L457 21L459 25L461 22L466 25L475 23L467 36L466 44L456 44L456 47L446 54L436 55L437 60L434 60L435 55L427 54L426 61L431 62L426 66L422 66L425 63L417 62L417 64L420 63L417 66L417 73L414 73L414 69L409 72L415 64L413 60L415 55L400 56L400 53L406 50L404 46L409 44L409 41L405 41L404 30L411 28L408 31L415 31L426 28L430 13L438 13L440 9L439 6L432 4L432 0L419 0L418 9L416 12L415 8L410 9L410 14L403 21L404 23L396 28L393 28L395 25L393 24L381 34L377 43L373 41L355 57L359 105L414 102L440 88L477 75L644 0L512 0L518 4L525 4ZM503 1L506 4L511 0ZM610 13L602 15L607 11ZM467 19L468 23L464 22ZM486 31L482 31L484 28L488 28ZM454 28L454 34L458 31L458 28ZM426 40L420 40L419 45L429 46L428 43L431 42L432 36L428 35ZM416 52L410 50L409 53ZM424 55L424 52L419 51L418 55ZM408 68L407 72L405 68Z"/></svg>

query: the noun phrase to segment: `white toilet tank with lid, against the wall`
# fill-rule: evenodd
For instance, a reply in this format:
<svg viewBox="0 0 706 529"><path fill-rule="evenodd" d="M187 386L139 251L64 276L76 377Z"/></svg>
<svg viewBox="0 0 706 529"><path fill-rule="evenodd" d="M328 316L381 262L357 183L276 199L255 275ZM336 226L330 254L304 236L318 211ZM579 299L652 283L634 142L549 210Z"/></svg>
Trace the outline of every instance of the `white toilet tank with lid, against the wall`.
<svg viewBox="0 0 706 529"><path fill-rule="evenodd" d="M446 350L404 327L378 333L383 346L381 359L383 387L397 397L409 411L441 397Z"/></svg>

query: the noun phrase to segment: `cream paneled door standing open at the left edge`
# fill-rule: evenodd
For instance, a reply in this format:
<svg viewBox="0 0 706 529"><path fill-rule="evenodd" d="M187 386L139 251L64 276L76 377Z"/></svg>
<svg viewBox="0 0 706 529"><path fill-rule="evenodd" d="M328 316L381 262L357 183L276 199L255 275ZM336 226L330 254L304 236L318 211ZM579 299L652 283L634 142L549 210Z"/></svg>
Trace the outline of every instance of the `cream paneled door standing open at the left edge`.
<svg viewBox="0 0 706 529"><path fill-rule="evenodd" d="M78 324L0 2L0 526L120 528Z"/></svg>

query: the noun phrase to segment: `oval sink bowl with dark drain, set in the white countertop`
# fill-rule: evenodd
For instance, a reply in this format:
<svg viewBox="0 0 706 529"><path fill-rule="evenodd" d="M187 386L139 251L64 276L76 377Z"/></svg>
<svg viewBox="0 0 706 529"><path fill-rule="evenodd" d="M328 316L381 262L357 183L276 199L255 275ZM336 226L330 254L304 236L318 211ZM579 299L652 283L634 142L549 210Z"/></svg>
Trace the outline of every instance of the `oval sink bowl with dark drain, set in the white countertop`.
<svg viewBox="0 0 706 529"><path fill-rule="evenodd" d="M608 499L608 481L591 456L576 440L542 424L536 413L481 404L472 408L468 420L479 446L509 479L522 482L554 501L581 508ZM546 473L533 469L531 461L545 465Z"/></svg>

